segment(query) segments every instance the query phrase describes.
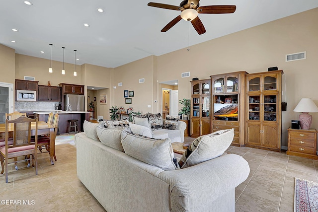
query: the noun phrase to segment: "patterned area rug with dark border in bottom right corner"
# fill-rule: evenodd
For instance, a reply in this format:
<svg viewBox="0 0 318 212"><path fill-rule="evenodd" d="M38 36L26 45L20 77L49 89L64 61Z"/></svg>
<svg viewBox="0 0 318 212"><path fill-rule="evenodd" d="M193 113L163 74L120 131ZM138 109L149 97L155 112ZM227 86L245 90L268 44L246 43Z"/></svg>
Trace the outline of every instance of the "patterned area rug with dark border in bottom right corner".
<svg viewBox="0 0 318 212"><path fill-rule="evenodd" d="M318 212L318 183L295 178L294 212Z"/></svg>

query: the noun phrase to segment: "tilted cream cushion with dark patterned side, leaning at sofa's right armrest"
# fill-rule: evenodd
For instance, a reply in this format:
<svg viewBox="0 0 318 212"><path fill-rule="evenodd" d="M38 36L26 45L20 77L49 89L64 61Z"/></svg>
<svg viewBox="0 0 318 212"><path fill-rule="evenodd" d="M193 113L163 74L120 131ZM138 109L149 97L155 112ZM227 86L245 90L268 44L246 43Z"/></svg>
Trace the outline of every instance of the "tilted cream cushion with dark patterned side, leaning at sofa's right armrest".
<svg viewBox="0 0 318 212"><path fill-rule="evenodd" d="M222 155L231 145L233 138L234 129L198 137L181 156L179 166L186 168Z"/></svg>

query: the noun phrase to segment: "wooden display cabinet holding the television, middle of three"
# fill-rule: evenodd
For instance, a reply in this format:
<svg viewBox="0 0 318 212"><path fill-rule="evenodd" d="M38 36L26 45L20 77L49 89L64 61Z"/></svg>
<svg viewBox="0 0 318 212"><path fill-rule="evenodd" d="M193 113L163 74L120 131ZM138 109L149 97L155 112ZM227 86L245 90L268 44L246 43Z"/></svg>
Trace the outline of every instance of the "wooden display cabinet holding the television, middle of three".
<svg viewBox="0 0 318 212"><path fill-rule="evenodd" d="M232 145L244 146L245 71L211 75L211 131L234 129Z"/></svg>

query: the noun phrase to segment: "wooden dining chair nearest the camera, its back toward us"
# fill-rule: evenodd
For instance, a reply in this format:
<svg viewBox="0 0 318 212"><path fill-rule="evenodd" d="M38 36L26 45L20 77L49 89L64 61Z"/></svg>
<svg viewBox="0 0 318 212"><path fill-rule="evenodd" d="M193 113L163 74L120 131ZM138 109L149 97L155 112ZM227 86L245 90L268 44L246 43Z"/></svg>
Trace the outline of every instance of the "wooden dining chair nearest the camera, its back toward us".
<svg viewBox="0 0 318 212"><path fill-rule="evenodd" d="M31 122L35 122L35 139L31 142ZM13 124L13 142L10 145L8 143L8 129L9 125ZM28 161L28 167L30 166L30 161L32 160L32 166L35 166L35 174L38 174L37 167L37 143L38 143L38 118L29 119L27 117L21 116L13 120L5 120L5 146L0 148L0 160L1 160L1 174L4 171L5 165L5 182L8 182L8 163L24 162ZM10 158L17 158L19 156L29 156L23 157L23 160L9 162Z"/></svg>

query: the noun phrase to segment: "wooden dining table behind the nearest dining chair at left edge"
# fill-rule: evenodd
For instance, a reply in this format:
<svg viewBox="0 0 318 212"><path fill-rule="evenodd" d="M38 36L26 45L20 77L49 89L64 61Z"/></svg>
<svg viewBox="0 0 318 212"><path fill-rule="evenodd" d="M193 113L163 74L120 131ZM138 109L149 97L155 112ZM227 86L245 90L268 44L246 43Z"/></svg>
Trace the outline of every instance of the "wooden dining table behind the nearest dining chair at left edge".
<svg viewBox="0 0 318 212"><path fill-rule="evenodd" d="M8 126L9 138L13 135L13 123ZM55 151L55 127L44 121L38 121L38 136L39 135L50 135L50 160L51 165L54 165L54 151ZM31 136L35 136L35 122L31 122ZM0 138L5 138L5 124L0 124Z"/></svg>

